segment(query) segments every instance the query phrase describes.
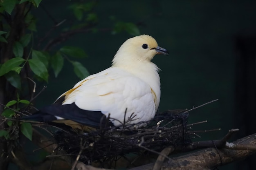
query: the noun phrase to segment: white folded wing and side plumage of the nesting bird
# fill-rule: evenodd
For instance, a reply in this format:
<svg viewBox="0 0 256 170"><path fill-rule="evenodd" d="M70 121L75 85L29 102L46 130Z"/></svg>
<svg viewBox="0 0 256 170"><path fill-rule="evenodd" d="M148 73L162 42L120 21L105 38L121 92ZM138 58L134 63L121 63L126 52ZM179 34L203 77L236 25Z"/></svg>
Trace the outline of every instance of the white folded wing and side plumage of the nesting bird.
<svg viewBox="0 0 256 170"><path fill-rule="evenodd" d="M152 88L138 77L120 68L111 67L90 75L65 92L62 103L75 103L80 109L101 111L115 119L117 126L134 113L132 123L148 121L155 115L156 95ZM127 110L126 110L127 109ZM126 112L125 112L126 111Z"/></svg>

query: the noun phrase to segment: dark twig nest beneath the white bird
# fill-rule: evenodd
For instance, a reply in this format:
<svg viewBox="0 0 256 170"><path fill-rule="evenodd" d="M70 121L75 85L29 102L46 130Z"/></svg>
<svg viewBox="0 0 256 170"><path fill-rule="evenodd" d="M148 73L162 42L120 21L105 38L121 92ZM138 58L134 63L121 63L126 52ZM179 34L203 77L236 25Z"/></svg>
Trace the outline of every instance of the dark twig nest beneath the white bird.
<svg viewBox="0 0 256 170"><path fill-rule="evenodd" d="M60 130L54 138L60 148L85 164L104 163L128 153L160 152L167 146L191 144L187 131L186 112L166 111L155 116L144 128L131 130L131 126L100 128L84 134L72 130ZM136 125L133 125L136 126Z"/></svg>

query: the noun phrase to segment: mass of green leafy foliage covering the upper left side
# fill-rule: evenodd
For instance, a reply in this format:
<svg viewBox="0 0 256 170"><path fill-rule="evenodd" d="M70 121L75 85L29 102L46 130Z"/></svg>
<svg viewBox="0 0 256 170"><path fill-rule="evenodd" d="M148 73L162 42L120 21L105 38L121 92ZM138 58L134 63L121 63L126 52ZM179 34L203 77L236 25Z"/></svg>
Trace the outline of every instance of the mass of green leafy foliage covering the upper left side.
<svg viewBox="0 0 256 170"><path fill-rule="evenodd" d="M97 8L97 1L81 0L70 1L67 8L74 15L71 24L67 26L63 24L65 20L54 20L52 29L43 33L45 37L40 37L37 32L38 18L33 10L38 10L41 2L42 0L0 0L0 84L1 87L6 87L0 89L1 94L4 94L4 103L0 103L0 115L6 118L5 128L0 129L0 137L4 139L18 139L17 132L14 133L18 129L32 140L31 124L13 120L19 119L24 111L32 109L36 86L33 88L31 82L51 83L49 77L57 77L65 62L72 64L74 74L80 79L89 75L85 66L76 61L88 57L86 49L63 43L70 36L81 32L97 33L100 30L112 33L126 31L131 35L139 35L139 29L132 22L113 20L112 28L101 29L101 16L94 10ZM54 29L60 30L56 37L52 35ZM58 48L55 47L56 44ZM28 96L31 96L29 100Z"/></svg>

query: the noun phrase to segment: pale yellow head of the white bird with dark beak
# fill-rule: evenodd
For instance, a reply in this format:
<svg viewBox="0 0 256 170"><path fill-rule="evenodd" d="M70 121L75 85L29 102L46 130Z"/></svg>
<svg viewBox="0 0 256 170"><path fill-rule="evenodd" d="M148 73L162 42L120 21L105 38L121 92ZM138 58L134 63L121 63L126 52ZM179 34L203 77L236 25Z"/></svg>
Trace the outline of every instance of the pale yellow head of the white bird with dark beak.
<svg viewBox="0 0 256 170"><path fill-rule="evenodd" d="M121 45L114 59L113 66L120 62L150 62L156 54L168 55L168 51L157 45L150 35L140 35L130 38ZM122 65L122 64L121 64Z"/></svg>

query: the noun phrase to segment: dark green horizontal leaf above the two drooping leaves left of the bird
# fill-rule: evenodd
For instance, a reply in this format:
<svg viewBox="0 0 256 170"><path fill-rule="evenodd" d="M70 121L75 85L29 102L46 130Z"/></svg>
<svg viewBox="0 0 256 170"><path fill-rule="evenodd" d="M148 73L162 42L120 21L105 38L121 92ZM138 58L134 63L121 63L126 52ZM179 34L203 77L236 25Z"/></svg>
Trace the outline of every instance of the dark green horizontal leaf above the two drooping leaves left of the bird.
<svg viewBox="0 0 256 170"><path fill-rule="evenodd" d="M85 51L76 46L63 46L60 49L60 51L65 55L69 55L70 57L75 57L75 58L87 57L87 54L85 53Z"/></svg>

